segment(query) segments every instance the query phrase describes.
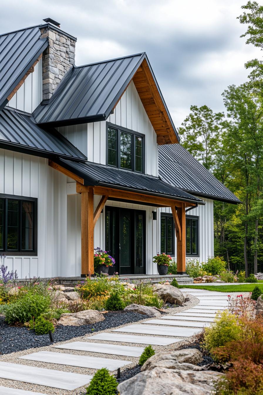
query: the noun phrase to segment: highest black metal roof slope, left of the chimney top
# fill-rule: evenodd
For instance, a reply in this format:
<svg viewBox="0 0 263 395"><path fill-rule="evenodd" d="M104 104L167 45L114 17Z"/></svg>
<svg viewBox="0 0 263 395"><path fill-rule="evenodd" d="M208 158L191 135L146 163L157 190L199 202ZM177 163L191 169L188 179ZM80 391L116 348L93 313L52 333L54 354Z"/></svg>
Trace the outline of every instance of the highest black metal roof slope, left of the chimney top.
<svg viewBox="0 0 263 395"><path fill-rule="evenodd" d="M7 97L48 46L38 26L0 35L0 110Z"/></svg>

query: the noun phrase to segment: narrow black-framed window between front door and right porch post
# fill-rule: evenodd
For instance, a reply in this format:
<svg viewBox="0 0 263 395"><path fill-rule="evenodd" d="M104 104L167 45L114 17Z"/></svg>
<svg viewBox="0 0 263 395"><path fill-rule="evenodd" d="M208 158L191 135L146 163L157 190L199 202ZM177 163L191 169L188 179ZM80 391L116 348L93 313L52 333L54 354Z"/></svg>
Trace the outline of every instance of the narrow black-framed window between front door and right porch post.
<svg viewBox="0 0 263 395"><path fill-rule="evenodd" d="M173 216L169 213L161 213L161 253L169 254L174 256L175 246L175 229Z"/></svg>

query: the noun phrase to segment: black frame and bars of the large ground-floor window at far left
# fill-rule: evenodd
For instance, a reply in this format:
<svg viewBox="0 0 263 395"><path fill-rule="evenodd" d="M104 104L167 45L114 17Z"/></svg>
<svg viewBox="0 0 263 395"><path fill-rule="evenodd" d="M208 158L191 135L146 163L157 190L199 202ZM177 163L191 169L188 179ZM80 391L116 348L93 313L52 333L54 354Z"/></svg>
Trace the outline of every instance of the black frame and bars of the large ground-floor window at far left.
<svg viewBox="0 0 263 395"><path fill-rule="evenodd" d="M31 198L29 196L19 196L19 195L8 195L8 194L0 194L0 198L4 199L13 199L20 201L32 201L34 203L34 216L33 216L33 250L6 250L6 243L4 250L0 250L0 254L4 254L6 256L37 256L37 198ZM6 221L6 210L7 205L5 205L6 209L4 210L4 235L7 233L7 221ZM21 218L21 212L20 212ZM21 223L21 219L20 219ZM19 227L19 247L21 246L21 226Z"/></svg>

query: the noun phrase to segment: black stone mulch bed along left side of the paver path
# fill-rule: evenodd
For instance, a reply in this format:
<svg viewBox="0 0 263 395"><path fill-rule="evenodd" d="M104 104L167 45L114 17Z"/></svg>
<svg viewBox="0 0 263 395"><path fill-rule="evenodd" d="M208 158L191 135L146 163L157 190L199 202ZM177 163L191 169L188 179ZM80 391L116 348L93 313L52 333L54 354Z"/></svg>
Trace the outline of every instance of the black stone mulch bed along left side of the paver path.
<svg viewBox="0 0 263 395"><path fill-rule="evenodd" d="M73 337L84 336L87 333L103 331L119 325L129 324L142 320L145 316L138 313L112 311L104 314L105 320L91 325L82 326L58 326L54 332L55 342L70 340ZM4 322L0 316L0 354L9 354L27 350L33 347L50 345L49 335L36 335L34 331L26 327L13 327Z"/></svg>

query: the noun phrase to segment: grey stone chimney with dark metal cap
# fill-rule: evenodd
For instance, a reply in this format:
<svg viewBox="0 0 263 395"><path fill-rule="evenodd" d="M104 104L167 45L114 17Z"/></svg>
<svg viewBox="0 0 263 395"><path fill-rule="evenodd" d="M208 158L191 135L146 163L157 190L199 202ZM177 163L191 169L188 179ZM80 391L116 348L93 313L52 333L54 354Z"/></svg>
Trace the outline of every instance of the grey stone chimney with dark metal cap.
<svg viewBox="0 0 263 395"><path fill-rule="evenodd" d="M47 102L67 71L75 65L76 38L49 23L42 26L40 32L41 38L48 37L42 59L43 100Z"/></svg>

